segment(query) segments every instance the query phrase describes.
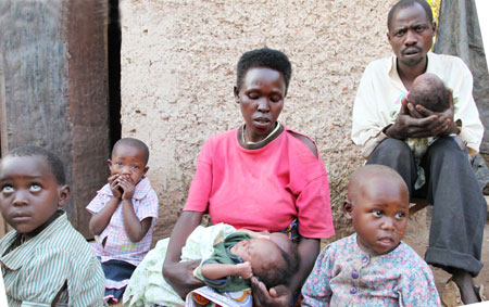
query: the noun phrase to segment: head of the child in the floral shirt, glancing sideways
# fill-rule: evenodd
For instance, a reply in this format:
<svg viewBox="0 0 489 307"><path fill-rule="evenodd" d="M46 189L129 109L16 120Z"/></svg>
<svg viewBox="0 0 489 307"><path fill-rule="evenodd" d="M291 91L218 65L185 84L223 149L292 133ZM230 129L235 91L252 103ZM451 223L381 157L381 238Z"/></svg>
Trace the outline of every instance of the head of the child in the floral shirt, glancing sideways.
<svg viewBox="0 0 489 307"><path fill-rule="evenodd" d="M365 253L387 254L404 236L408 187L402 177L387 166L363 166L350 178L343 212L352 220L356 241Z"/></svg>

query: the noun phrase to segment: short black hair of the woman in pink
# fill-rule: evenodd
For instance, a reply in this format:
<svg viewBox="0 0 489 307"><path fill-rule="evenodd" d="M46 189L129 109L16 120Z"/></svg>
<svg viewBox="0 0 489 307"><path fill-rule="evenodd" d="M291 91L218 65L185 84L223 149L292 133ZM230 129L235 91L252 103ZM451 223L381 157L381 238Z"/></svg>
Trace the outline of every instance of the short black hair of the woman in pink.
<svg viewBox="0 0 489 307"><path fill-rule="evenodd" d="M281 73L286 84L286 94L292 76L292 65L289 57L278 50L262 48L244 52L238 61L236 87L241 88L242 79L248 69L254 67L272 68Z"/></svg>

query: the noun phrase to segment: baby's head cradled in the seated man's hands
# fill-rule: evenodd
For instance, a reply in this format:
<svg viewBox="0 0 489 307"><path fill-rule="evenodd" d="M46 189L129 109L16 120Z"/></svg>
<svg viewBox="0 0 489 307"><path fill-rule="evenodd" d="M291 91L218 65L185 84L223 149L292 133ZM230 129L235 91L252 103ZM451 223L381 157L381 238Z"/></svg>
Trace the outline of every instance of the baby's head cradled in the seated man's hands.
<svg viewBox="0 0 489 307"><path fill-rule="evenodd" d="M414 79L408 101L440 113L450 107L450 91L437 75L425 73Z"/></svg>

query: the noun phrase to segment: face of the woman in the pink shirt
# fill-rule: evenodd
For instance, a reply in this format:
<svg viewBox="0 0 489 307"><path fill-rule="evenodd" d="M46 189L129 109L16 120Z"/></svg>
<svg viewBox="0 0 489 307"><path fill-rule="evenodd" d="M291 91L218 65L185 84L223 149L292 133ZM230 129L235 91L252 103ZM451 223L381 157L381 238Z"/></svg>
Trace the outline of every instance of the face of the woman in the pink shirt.
<svg viewBox="0 0 489 307"><path fill-rule="evenodd" d="M281 73L266 67L248 69L235 99L247 125L247 141L263 140L275 127L284 107L286 84Z"/></svg>

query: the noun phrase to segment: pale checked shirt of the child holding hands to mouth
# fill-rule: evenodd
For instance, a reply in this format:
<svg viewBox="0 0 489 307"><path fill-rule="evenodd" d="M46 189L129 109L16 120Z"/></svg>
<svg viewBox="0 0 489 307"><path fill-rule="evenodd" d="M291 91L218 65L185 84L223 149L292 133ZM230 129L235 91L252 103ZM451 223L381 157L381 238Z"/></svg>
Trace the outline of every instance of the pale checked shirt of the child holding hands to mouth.
<svg viewBox="0 0 489 307"><path fill-rule="evenodd" d="M112 200L111 187L103 186L98 191L97 196L88 204L87 209L91 214L99 213ZM151 188L148 177L143 177L138 184L133 195L133 207L139 220L151 217L151 227L146 233L145 238L139 242L131 242L127 236L124 228L124 216L122 201L115 209L109 221L109 225L100 233L99 240L92 245L97 256L101 258L102 263L109 260L122 260L134 266L139 265L145 258L146 254L151 247L151 240L153 238L153 228L158 219L158 195ZM105 244L102 246L101 242Z"/></svg>

